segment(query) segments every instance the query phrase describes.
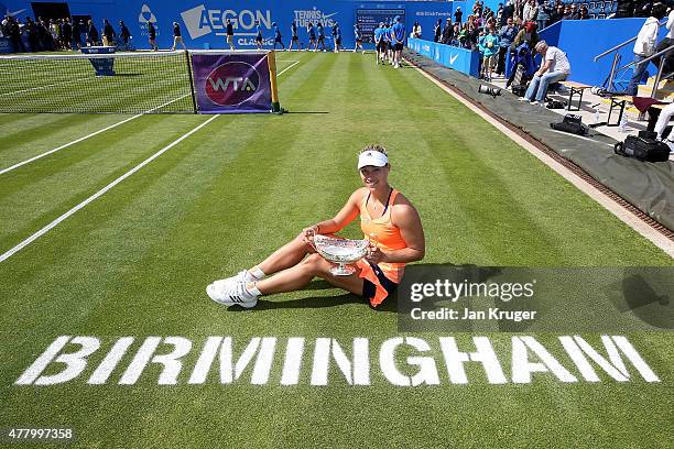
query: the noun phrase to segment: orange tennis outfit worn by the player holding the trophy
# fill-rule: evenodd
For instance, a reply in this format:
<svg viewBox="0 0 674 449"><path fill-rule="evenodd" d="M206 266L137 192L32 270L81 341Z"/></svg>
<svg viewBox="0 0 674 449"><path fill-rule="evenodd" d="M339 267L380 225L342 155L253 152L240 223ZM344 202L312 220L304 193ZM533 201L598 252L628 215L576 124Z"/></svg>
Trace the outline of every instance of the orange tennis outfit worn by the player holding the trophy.
<svg viewBox="0 0 674 449"><path fill-rule="evenodd" d="M398 194L398 190L391 190L389 200L384 206L384 212L379 218L372 218L368 212L367 204L370 198L369 194L363 196L360 205L360 229L366 239L377 241L377 245L383 251L407 248L407 244L400 234L400 229L391 222L391 209ZM376 287L374 296L369 298L370 304L374 307L380 305L387 296L389 296L389 292L382 285L381 280L377 275L377 271L383 273L383 275L394 284L400 284L405 271L404 263L380 262L374 265L365 259L356 262L356 266L360 269L359 276L371 282Z"/></svg>

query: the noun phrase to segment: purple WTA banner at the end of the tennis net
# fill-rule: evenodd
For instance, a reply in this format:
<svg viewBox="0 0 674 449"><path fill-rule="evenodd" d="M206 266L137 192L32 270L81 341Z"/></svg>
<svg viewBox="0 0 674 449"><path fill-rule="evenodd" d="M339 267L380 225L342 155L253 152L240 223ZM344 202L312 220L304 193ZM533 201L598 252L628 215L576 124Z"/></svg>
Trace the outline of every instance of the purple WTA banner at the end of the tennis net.
<svg viewBox="0 0 674 449"><path fill-rule="evenodd" d="M272 94L267 53L192 53L199 113L270 112Z"/></svg>

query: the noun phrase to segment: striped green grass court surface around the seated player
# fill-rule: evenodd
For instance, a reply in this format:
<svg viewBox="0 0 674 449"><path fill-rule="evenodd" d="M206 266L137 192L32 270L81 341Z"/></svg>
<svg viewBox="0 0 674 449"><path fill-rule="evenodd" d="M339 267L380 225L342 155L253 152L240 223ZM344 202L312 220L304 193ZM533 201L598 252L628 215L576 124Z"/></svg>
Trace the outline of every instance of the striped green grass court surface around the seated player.
<svg viewBox="0 0 674 449"><path fill-rule="evenodd" d="M333 216L359 187L356 154L371 142L389 149L391 184L418 208L423 263L673 265L415 69L377 67L360 54L278 59L281 105L292 113L142 116L0 175L6 253L211 120L0 262L0 426L69 427L75 447L671 446L670 332L627 333L657 383L618 383L604 373L601 382L564 383L540 373L528 384L494 385L480 366L467 365L470 382L450 384L434 344L424 355L438 360L439 385L393 386L374 369L368 385L349 385L333 365L327 385L316 386L309 377L317 339L336 339L350 354L355 338L368 338L376 365L377 349L400 336L396 315L372 311L322 282L264 297L249 311L210 302L209 282ZM0 114L0 171L128 118ZM352 225L346 236L358 233ZM478 335L489 337L508 373L512 336L454 337L469 349ZM101 349L70 382L15 385L59 336L95 336ZM159 384L157 364L119 384L153 336L193 342L177 384ZM218 382L215 368L204 383L189 384L209 336L232 337L237 357L256 337L275 337L280 351L302 337L300 379L281 384L281 351L265 384L252 384L250 366L230 384ZM87 384L123 337L134 340L109 380ZM601 348L599 335L583 337ZM556 335L535 338L573 366ZM418 370L405 363L414 352L395 355L409 375Z"/></svg>

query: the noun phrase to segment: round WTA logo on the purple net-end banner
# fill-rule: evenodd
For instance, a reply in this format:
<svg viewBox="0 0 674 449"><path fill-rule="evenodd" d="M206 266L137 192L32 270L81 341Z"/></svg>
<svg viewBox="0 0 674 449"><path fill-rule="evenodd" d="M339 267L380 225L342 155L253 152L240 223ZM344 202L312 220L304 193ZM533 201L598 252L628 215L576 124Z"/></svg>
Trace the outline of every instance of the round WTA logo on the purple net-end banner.
<svg viewBox="0 0 674 449"><path fill-rule="evenodd" d="M204 89L214 103L236 106L252 97L259 86L260 74L256 67L237 61L216 67L206 78Z"/></svg>

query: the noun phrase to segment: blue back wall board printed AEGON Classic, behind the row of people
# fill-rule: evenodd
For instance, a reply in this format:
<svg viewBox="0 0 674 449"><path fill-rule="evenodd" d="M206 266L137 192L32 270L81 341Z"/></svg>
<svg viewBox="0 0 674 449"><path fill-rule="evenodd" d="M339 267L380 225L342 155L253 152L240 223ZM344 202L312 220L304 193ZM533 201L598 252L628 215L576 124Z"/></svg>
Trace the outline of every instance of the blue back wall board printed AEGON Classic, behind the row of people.
<svg viewBox="0 0 674 449"><path fill-rule="evenodd" d="M25 0L2 0L7 8L15 11L25 9L21 14L33 17L32 3ZM229 48L226 44L226 22L231 20L235 31L235 45L238 48L254 48L256 21L259 21L264 37L264 46L273 46L273 26L276 22L283 41L287 45L291 36L291 22L294 20L300 29L300 40L306 46L308 41L306 25L320 21L326 26L339 23L343 34L343 46L355 45L354 24L358 10L370 11L371 18L381 18L376 10L402 10L405 17L406 34L412 31L414 22L420 22L423 35L433 37L433 24L437 19L450 17L453 2L447 1L327 1L327 0L97 0L68 2L70 14L90 15L100 29L104 19L116 25L123 20L133 36L135 48L150 48L148 43L148 24L152 22L157 31L156 41L161 48L173 45L172 24L177 22L182 28L183 39L189 48ZM385 15L385 13L383 14ZM392 17L391 17L392 19ZM372 48L372 44L369 44Z"/></svg>

